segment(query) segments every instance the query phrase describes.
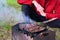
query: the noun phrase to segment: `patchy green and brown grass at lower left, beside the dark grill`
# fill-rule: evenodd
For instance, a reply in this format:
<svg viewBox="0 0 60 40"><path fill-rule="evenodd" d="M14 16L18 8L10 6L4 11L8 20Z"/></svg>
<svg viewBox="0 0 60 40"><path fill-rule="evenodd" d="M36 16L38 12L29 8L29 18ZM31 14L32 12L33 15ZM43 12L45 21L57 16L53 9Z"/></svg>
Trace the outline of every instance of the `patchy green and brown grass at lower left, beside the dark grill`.
<svg viewBox="0 0 60 40"><path fill-rule="evenodd" d="M0 40L11 40L11 25L10 23L0 23Z"/></svg>

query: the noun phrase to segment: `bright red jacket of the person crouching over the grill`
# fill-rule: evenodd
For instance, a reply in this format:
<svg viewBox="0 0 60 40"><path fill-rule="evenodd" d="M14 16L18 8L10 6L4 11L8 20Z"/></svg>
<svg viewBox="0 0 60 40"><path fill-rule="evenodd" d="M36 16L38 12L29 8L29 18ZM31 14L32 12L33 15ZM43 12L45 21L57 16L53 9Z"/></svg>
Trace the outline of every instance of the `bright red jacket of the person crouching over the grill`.
<svg viewBox="0 0 60 40"><path fill-rule="evenodd" d="M45 3L45 13L46 18L58 18L60 19L60 0L36 0L39 4L41 4L42 7L44 7ZM30 5L32 4L32 0L17 0L19 4L26 4ZM36 10L37 11L37 10ZM38 12L40 15L40 13Z"/></svg>

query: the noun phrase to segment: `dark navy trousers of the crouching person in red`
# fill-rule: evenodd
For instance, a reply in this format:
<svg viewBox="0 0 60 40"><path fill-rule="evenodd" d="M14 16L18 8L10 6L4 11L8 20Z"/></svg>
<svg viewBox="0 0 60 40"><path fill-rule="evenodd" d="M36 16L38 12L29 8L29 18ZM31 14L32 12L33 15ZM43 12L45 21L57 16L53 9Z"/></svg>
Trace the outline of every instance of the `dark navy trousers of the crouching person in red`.
<svg viewBox="0 0 60 40"><path fill-rule="evenodd" d="M45 17L38 15L36 13L36 11L33 9L33 6L30 7L28 5L22 5L22 11L24 12L24 14L26 16L30 17L32 20L34 20L36 22L42 22L42 21L47 20ZM60 20L59 19L56 19L56 20L51 21L46 24L52 28L60 28Z"/></svg>

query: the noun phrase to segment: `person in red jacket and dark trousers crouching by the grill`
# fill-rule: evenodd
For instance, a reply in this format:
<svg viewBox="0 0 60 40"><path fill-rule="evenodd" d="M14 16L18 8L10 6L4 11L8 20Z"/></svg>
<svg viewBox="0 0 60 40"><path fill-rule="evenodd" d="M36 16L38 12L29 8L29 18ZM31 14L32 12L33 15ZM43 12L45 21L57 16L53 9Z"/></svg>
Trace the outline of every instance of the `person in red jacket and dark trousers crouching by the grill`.
<svg viewBox="0 0 60 40"><path fill-rule="evenodd" d="M19 4L22 4L22 11L26 16L30 17L36 22L43 22L48 19L55 18L55 20L46 23L50 27L60 28L60 0L33 0L41 5L44 10L40 10L39 7L32 3L32 0L17 0ZM38 10L37 10L38 9Z"/></svg>

